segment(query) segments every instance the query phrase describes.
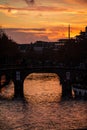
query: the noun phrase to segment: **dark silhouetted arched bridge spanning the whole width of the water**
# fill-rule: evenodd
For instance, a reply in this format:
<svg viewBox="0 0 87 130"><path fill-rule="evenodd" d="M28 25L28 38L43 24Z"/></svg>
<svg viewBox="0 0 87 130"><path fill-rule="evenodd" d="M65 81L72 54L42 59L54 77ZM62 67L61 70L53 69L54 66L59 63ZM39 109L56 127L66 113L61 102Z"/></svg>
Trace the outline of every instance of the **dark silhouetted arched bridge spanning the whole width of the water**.
<svg viewBox="0 0 87 130"><path fill-rule="evenodd" d="M60 78L62 84L62 96L72 96L71 85L77 82L82 82L87 75L87 69L76 67L63 66L4 66L0 68L0 79L4 75L6 81L4 84L0 82L0 88L9 83L10 80L14 83L14 97L24 97L24 80L31 73L55 73ZM0 80L1 81L1 80Z"/></svg>

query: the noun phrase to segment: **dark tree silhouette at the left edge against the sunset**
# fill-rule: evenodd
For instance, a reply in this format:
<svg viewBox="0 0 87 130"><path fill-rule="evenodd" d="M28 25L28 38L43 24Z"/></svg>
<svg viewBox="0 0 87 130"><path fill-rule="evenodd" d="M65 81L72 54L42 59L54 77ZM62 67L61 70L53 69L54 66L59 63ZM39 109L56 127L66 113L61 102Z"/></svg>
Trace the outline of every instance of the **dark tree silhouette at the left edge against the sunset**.
<svg viewBox="0 0 87 130"><path fill-rule="evenodd" d="M3 30L0 30L0 60L10 61L16 60L19 57L18 45L13 40L9 39ZM15 60L14 60L15 59Z"/></svg>

